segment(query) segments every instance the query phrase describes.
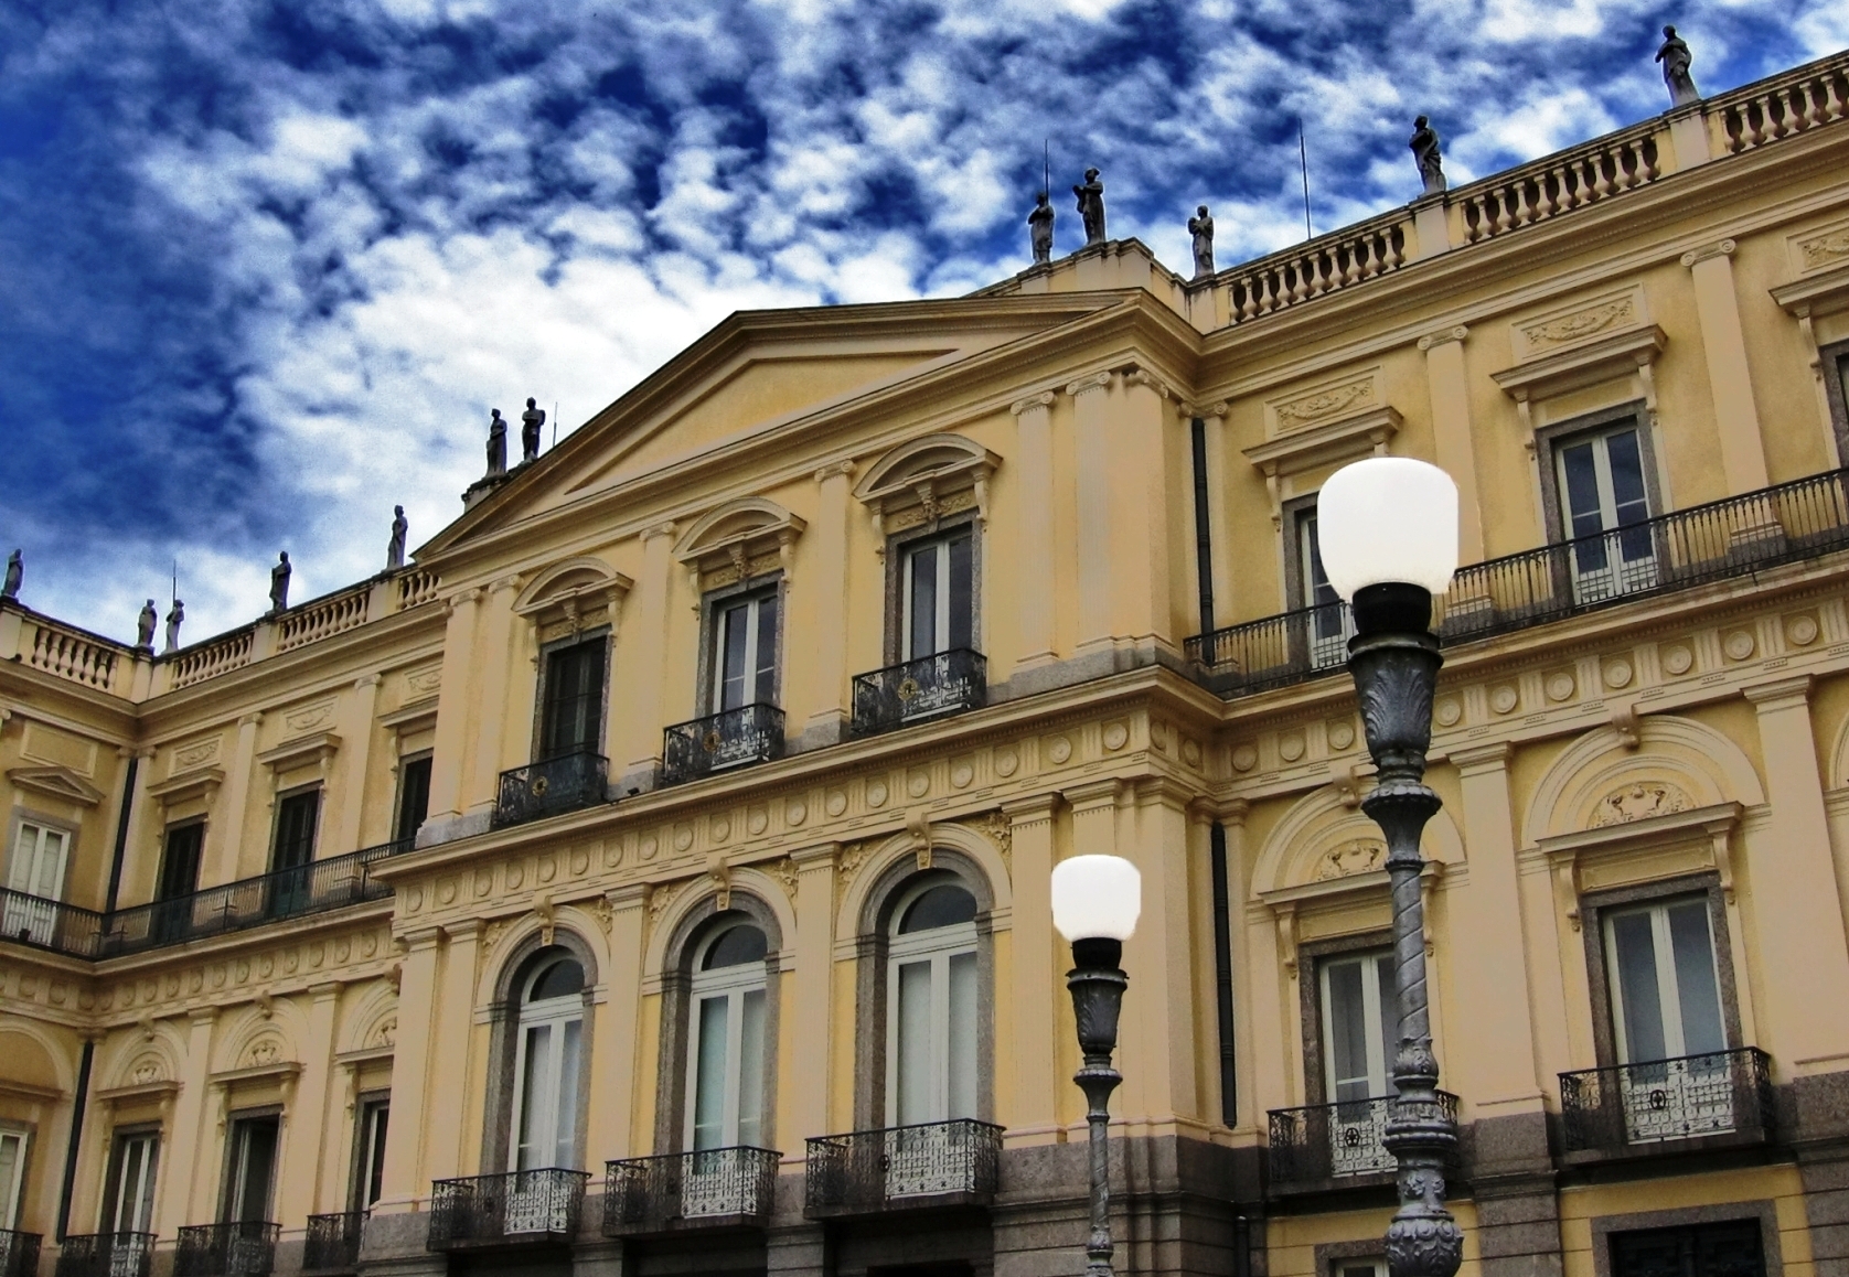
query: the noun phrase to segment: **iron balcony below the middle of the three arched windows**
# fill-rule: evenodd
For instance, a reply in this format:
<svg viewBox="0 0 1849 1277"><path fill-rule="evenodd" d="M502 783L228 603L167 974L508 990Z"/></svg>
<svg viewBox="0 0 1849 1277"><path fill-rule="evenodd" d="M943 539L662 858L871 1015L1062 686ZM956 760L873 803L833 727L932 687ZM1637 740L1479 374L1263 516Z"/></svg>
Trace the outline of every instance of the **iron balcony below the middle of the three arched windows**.
<svg viewBox="0 0 1849 1277"><path fill-rule="evenodd" d="M603 1234L764 1227L777 1196L777 1164L782 1159L782 1153L767 1148L714 1148L608 1162Z"/></svg>

